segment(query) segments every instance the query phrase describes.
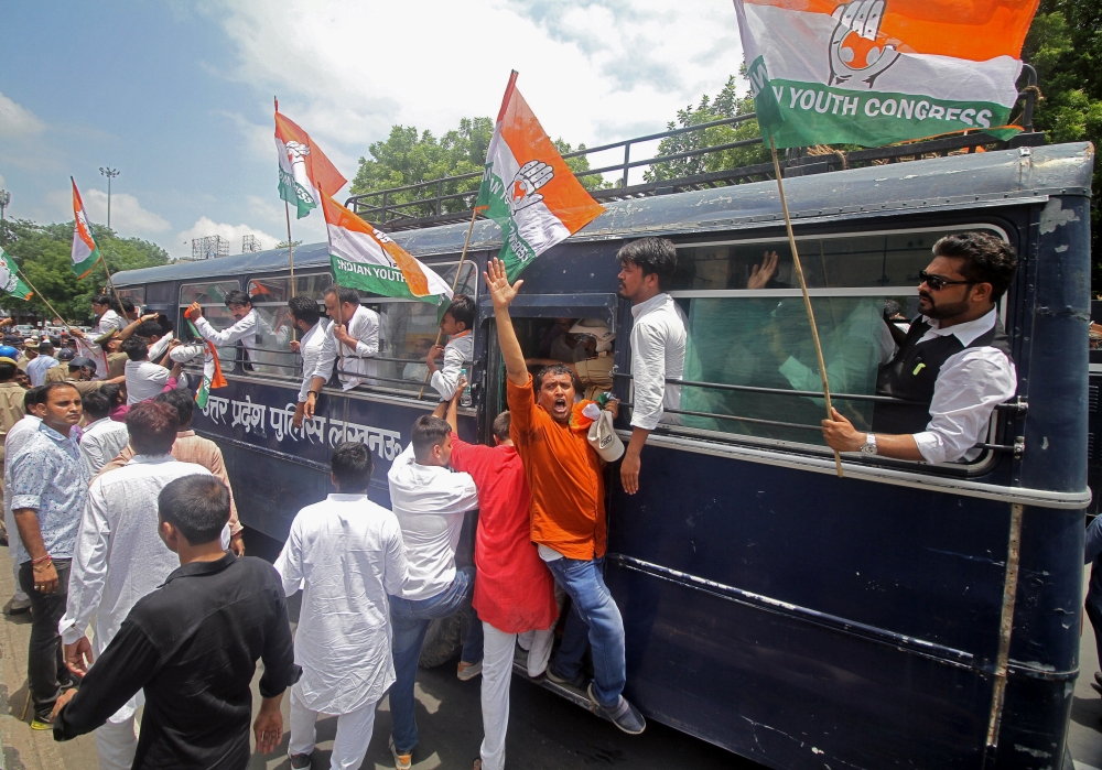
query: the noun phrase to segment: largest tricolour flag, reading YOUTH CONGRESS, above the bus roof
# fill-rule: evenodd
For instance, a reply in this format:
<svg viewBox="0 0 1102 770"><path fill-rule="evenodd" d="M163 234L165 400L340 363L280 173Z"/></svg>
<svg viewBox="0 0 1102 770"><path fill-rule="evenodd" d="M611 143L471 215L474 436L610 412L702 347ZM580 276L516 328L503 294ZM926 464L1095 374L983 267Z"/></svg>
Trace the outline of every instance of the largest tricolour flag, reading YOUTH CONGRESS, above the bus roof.
<svg viewBox="0 0 1102 770"><path fill-rule="evenodd" d="M763 137L878 147L980 129L1018 98L1038 0L734 0Z"/></svg>

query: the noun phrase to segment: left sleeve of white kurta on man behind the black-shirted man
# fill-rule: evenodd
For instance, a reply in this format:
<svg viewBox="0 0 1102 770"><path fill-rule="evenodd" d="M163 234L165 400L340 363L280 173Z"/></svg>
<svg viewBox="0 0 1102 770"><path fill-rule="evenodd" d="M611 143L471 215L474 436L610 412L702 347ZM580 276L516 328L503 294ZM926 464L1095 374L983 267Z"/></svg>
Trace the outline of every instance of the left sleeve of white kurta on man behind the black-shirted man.
<svg viewBox="0 0 1102 770"><path fill-rule="evenodd" d="M107 581L107 552L110 542L111 523L107 518L107 499L102 494L102 485L93 484L76 535L76 546L73 549L65 615L57 623L57 632L66 644L73 644L84 636L99 609Z"/></svg>

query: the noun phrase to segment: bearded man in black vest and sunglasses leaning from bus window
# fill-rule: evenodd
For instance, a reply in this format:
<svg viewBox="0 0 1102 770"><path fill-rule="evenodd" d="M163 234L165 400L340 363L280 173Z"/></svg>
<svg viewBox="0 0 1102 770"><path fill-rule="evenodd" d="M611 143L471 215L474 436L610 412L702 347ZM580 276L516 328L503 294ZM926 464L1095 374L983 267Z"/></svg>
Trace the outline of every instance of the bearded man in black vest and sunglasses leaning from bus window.
<svg viewBox="0 0 1102 770"><path fill-rule="evenodd" d="M931 464L979 456L973 447L995 404L1017 390L997 310L1017 263L1014 249L987 232L934 243L933 261L919 273L922 315L876 378L877 395L911 403L877 403L872 433L834 410L834 419L822 422L827 444Z"/></svg>

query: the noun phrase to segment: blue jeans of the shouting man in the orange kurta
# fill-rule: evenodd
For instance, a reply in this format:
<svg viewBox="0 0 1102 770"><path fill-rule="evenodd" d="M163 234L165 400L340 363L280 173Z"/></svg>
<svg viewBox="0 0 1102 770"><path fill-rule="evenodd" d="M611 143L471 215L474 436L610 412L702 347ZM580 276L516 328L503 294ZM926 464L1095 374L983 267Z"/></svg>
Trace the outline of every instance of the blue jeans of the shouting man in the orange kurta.
<svg viewBox="0 0 1102 770"><path fill-rule="evenodd" d="M562 644L555 654L555 671L572 677L582 668L586 642L593 649L593 694L597 703L612 708L619 703L627 681L624 659L624 619L605 586L604 558L580 561L557 558L548 562L555 582L571 598Z"/></svg>

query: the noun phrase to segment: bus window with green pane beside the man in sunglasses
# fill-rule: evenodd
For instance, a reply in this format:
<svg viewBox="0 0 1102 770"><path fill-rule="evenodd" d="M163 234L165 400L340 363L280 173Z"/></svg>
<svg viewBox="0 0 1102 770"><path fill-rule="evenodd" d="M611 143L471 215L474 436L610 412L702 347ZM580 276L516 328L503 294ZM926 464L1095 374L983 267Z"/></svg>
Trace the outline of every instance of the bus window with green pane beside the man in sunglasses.
<svg viewBox="0 0 1102 770"><path fill-rule="evenodd" d="M799 239L832 395L875 393L878 368L896 349L888 324L906 330L933 243L963 229L976 228ZM674 283L670 294L689 321L684 380L821 390L786 240L679 247ZM832 401L857 430L869 429L871 402ZM684 427L825 445L822 397L684 387L681 411L715 415L682 414Z"/></svg>

